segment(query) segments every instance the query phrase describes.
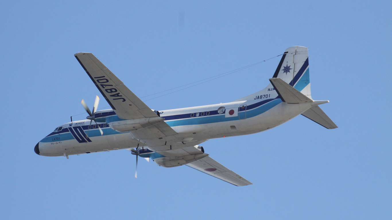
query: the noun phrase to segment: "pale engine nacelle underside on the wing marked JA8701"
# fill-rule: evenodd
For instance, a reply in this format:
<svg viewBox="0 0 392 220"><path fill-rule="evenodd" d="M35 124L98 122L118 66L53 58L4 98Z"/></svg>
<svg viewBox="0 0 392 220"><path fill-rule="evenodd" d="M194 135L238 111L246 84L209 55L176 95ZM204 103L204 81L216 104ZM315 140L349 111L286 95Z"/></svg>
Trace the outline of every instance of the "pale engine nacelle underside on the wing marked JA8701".
<svg viewBox="0 0 392 220"><path fill-rule="evenodd" d="M154 124L158 124L164 120L165 119L163 117L150 117L150 118L114 121L109 123L109 126L117 132L132 132L143 128L147 128Z"/></svg>

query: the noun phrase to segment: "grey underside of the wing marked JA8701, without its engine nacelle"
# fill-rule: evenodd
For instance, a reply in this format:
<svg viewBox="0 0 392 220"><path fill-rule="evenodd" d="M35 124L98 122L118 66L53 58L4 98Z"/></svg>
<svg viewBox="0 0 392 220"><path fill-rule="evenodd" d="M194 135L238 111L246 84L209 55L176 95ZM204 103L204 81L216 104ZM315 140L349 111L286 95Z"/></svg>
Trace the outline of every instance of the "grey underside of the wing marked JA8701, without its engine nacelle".
<svg viewBox="0 0 392 220"><path fill-rule="evenodd" d="M120 119L158 117L93 54L81 52L75 57ZM183 138L174 136L177 133L164 121L131 133L137 139L145 139L145 146L161 146L157 148L159 150L171 149L171 145L173 148L182 147Z"/></svg>

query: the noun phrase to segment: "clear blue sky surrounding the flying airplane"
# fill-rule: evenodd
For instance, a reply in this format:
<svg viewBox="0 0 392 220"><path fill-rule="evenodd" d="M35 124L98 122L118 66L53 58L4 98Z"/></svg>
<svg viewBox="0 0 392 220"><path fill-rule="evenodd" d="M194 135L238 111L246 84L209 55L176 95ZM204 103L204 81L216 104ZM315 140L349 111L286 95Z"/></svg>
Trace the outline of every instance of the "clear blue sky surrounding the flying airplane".
<svg viewBox="0 0 392 220"><path fill-rule="evenodd" d="M0 219L390 219L390 1L2 1ZM312 97L338 124L299 115L202 144L254 184L118 150L43 157L35 144L92 106L74 58L92 52L137 96L309 47ZM146 101L165 110L264 88L279 58ZM146 100L143 98L143 100ZM100 107L108 106L101 97ZM78 115L82 119L86 114Z"/></svg>

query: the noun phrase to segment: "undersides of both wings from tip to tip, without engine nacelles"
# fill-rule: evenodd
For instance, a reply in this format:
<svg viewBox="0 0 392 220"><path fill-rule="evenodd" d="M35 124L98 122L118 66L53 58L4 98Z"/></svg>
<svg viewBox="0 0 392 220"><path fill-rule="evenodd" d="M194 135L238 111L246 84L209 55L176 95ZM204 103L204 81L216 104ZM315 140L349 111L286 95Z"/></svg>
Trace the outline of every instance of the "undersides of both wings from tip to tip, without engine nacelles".
<svg viewBox="0 0 392 220"><path fill-rule="evenodd" d="M75 54L75 57L119 118L141 119L158 117L151 108L129 90L129 88L127 88L123 82L107 69L107 67L105 67L105 65L103 65L103 63L93 54L77 53ZM184 136L184 134L176 133L164 121L141 130L132 131L131 134L135 139L140 140L143 146L147 146L147 148L157 151L165 157L184 157L199 153L194 152L196 149L194 146L206 141L186 141L186 134ZM191 162L187 164L187 166L236 186L252 184L209 156Z"/></svg>

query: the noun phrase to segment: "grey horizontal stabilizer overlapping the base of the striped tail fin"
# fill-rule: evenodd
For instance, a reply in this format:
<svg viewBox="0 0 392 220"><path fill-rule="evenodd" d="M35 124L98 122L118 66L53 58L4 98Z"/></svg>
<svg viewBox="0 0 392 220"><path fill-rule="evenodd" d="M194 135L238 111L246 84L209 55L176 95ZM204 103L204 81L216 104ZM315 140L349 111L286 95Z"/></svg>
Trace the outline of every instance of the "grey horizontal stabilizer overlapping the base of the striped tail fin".
<svg viewBox="0 0 392 220"><path fill-rule="evenodd" d="M312 99L309 99L304 94L296 90L294 87L283 81L280 78L271 78L269 79L272 86L275 88L278 95L285 103L305 103L312 102Z"/></svg>

